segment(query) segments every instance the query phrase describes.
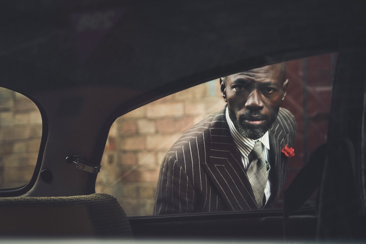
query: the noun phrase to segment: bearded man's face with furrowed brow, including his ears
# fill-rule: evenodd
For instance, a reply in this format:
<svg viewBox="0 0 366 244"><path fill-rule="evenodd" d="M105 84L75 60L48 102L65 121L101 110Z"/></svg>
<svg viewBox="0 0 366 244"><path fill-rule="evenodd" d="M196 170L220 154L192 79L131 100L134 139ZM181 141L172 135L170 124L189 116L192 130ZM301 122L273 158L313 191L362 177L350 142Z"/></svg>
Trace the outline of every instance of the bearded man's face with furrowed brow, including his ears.
<svg viewBox="0 0 366 244"><path fill-rule="evenodd" d="M284 74L284 66L274 64L226 76L221 83L230 119L243 136L261 138L276 120L288 86Z"/></svg>

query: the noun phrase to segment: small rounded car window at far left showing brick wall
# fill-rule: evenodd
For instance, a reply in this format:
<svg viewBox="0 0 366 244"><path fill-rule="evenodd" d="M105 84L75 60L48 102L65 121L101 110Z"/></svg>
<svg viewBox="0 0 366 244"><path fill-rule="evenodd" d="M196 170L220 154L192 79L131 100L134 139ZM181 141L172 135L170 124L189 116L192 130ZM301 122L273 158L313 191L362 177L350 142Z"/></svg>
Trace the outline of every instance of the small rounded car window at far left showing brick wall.
<svg viewBox="0 0 366 244"><path fill-rule="evenodd" d="M29 98L0 87L0 188L31 179L42 135L42 118Z"/></svg>

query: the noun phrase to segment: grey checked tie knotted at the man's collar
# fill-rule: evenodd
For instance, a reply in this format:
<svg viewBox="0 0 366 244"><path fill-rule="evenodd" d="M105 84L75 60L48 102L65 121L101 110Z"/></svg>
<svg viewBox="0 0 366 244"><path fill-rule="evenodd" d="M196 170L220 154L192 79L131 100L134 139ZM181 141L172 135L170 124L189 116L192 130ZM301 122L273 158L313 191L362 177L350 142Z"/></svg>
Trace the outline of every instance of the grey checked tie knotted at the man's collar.
<svg viewBox="0 0 366 244"><path fill-rule="evenodd" d="M271 167L264 157L261 142L255 142L252 152L254 153L254 159L249 164L247 176L253 189L255 202L258 209L261 209L263 206L264 189L267 185L268 173Z"/></svg>

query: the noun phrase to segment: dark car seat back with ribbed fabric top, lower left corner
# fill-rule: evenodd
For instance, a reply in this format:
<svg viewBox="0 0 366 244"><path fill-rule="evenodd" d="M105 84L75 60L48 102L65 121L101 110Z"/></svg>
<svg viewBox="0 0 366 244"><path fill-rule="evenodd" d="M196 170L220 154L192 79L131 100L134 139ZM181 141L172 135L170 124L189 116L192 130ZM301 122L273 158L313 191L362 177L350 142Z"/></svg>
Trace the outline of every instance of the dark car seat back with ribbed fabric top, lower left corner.
<svg viewBox="0 0 366 244"><path fill-rule="evenodd" d="M122 207L108 194L0 198L0 235L133 237Z"/></svg>

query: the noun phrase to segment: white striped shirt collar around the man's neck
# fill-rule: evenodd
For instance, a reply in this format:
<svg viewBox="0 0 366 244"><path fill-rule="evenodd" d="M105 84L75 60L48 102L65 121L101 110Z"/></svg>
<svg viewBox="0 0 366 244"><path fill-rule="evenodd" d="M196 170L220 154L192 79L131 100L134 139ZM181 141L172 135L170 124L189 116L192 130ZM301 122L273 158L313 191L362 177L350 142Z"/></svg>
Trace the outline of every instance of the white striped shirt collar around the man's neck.
<svg viewBox="0 0 366 244"><path fill-rule="evenodd" d="M232 135L232 138L234 139L234 143L238 147L240 153L244 156L244 158L247 158L249 153L254 147L254 144L257 140L262 142L264 146L269 150L269 133L268 131L261 137L256 140L246 138L240 132L238 129L235 128L234 123L232 123L230 117L229 117L229 110L226 106L226 112L225 112L226 120L229 125L230 133Z"/></svg>

